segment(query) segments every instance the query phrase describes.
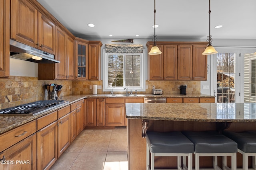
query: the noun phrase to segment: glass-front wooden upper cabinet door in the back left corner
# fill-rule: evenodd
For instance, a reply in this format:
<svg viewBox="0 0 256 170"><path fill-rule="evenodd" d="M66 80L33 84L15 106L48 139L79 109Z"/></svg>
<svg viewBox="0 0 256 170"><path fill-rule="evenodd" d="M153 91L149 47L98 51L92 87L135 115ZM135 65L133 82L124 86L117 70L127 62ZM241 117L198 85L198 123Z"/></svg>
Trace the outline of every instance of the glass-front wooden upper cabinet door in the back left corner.
<svg viewBox="0 0 256 170"><path fill-rule="evenodd" d="M88 80L88 43L76 41L76 80Z"/></svg>

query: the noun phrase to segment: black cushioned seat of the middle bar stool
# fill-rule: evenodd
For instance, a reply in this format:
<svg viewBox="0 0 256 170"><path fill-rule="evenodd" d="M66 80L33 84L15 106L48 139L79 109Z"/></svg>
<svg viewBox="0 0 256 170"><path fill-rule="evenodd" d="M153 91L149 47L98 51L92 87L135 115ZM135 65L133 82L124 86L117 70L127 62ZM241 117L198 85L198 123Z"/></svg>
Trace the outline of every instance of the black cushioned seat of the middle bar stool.
<svg viewBox="0 0 256 170"><path fill-rule="evenodd" d="M182 131L194 143L196 153L234 153L237 143L216 131Z"/></svg>

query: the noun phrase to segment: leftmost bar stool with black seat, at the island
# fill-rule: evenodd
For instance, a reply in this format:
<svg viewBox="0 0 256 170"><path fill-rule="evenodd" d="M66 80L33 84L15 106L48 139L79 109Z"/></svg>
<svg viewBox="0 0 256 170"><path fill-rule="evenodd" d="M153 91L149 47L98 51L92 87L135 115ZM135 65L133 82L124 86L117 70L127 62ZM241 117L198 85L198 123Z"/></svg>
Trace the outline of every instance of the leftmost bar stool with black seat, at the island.
<svg viewBox="0 0 256 170"><path fill-rule="evenodd" d="M151 154L151 170L154 170L155 156L178 156L178 170L192 170L192 155L194 150L193 143L186 138L180 131L174 132L154 132L146 133L147 152L146 163L147 170L150 170L149 160ZM150 153L150 154L149 154ZM181 156L183 157L183 166L181 166ZM188 167L186 166L186 156L188 156Z"/></svg>

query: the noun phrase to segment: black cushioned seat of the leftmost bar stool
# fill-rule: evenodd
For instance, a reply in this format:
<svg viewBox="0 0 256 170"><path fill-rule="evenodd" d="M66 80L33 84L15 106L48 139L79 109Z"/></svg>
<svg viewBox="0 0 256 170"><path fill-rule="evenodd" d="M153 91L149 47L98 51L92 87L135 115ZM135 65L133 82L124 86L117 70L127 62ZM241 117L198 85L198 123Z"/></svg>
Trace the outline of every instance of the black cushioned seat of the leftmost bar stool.
<svg viewBox="0 0 256 170"><path fill-rule="evenodd" d="M153 153L193 153L194 144L180 131L146 133L150 152Z"/></svg>

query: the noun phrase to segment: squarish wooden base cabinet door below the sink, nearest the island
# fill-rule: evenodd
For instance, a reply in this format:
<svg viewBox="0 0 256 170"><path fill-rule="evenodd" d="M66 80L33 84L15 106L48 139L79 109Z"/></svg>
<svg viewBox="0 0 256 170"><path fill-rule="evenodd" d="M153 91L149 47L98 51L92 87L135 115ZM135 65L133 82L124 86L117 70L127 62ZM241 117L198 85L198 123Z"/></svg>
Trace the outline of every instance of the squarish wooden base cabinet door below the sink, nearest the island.
<svg viewBox="0 0 256 170"><path fill-rule="evenodd" d="M106 104L105 105L106 126L124 126L124 104Z"/></svg>

